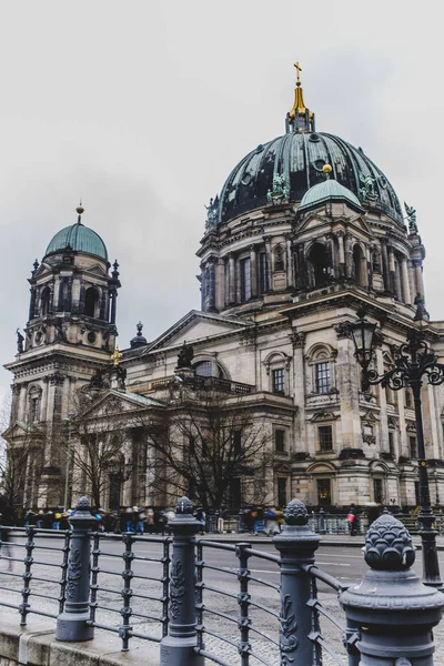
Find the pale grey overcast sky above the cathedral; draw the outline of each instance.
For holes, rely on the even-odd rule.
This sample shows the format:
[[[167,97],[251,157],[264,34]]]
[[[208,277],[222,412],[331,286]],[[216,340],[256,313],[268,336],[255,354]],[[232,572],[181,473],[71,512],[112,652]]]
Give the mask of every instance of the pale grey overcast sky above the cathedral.
[[[316,129],[417,210],[432,319],[444,319],[441,3],[0,1],[1,356],[53,234],[83,222],[121,265],[120,346],[200,306],[206,204],[284,132],[302,65]],[[0,395],[11,375],[0,372]]]

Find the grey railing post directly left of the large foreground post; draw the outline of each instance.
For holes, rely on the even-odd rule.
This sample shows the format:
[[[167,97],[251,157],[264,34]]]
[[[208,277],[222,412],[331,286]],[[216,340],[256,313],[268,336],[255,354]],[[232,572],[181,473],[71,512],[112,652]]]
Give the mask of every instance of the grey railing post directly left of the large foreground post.
[[[281,664],[320,664],[317,646],[311,640],[317,630],[316,610],[311,607],[313,583],[305,566],[314,563],[320,538],[309,527],[305,504],[292,500],[284,511],[285,525],[273,537],[281,553]]]

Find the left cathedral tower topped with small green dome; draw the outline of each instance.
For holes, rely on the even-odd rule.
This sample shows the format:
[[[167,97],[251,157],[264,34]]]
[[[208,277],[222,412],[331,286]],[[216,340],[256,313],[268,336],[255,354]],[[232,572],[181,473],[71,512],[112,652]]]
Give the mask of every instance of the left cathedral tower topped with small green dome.
[[[30,476],[40,481],[23,497],[39,506],[61,504],[60,444],[75,411],[73,396],[110,365],[118,335],[119,264],[111,270],[102,239],[82,223],[83,206],[75,210],[77,222],[59,231],[33,264],[24,337],[18,331],[16,360],[6,365],[14,375],[7,440],[39,442],[39,468]]]

